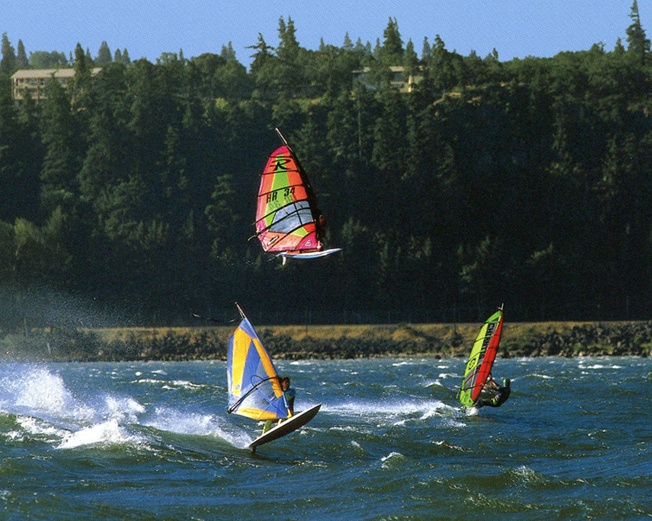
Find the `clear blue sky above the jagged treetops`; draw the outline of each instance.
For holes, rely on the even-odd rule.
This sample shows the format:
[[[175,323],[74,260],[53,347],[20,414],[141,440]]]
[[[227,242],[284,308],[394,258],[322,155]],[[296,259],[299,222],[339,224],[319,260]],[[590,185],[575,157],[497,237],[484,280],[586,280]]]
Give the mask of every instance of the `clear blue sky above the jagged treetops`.
[[[57,51],[69,56],[77,43],[93,57],[106,41],[112,53],[127,49],[133,60],[156,62],[163,53],[186,58],[219,54],[232,44],[247,67],[262,34],[278,43],[279,19],[292,19],[299,45],[316,50],[320,40],[341,47],[348,34],[372,47],[396,19],[406,44],[421,55],[424,38],[437,35],[446,48],[500,61],[545,58],[584,51],[602,43],[607,51],[626,41],[633,0],[2,0],[0,32],[27,55]],[[652,0],[638,0],[641,23],[652,37]]]

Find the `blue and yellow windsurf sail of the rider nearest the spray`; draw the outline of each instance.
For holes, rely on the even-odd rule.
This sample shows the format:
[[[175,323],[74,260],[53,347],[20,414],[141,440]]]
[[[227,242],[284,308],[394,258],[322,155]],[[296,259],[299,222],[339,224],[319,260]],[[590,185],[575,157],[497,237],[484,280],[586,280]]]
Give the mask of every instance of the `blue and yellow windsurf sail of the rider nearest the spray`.
[[[276,368],[244,315],[229,338],[227,379],[230,413],[255,420],[287,418]]]

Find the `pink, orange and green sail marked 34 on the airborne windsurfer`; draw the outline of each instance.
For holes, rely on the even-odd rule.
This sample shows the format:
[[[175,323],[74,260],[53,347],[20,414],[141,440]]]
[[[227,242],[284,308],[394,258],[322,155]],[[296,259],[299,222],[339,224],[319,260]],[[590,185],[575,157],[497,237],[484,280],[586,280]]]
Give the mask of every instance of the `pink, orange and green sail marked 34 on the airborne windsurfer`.
[[[319,252],[319,217],[308,177],[285,142],[269,156],[260,179],[256,235],[266,252]]]

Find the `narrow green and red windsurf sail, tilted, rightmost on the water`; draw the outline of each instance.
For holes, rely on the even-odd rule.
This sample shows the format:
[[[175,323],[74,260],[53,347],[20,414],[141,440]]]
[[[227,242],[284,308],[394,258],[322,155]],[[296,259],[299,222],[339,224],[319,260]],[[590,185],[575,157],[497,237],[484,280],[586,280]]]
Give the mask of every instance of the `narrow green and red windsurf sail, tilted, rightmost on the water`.
[[[464,379],[459,395],[462,405],[471,407],[480,397],[496,359],[502,330],[503,310],[501,308],[487,319],[473,343],[464,369]]]

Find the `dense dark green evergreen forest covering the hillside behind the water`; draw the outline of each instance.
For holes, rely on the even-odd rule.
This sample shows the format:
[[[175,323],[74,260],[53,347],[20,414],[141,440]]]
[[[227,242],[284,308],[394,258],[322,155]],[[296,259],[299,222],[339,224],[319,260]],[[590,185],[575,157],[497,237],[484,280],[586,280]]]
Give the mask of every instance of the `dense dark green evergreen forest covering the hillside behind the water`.
[[[247,70],[228,47],[108,60],[15,103],[0,63],[0,327],[647,319],[652,60],[625,42],[554,58],[312,51],[279,21]],[[14,59],[12,59],[12,57]],[[395,88],[390,67],[416,78]],[[353,71],[364,71],[354,74]],[[280,127],[341,254],[263,256],[255,195]]]

